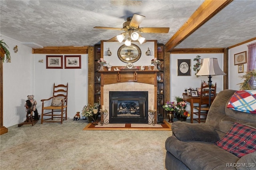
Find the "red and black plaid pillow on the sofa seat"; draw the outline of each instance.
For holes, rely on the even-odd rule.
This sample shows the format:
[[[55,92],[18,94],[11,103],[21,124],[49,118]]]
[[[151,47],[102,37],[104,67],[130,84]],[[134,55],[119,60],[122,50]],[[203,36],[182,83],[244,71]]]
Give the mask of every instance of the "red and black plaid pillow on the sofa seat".
[[[256,152],[256,129],[234,123],[228,133],[215,144],[241,158]]]

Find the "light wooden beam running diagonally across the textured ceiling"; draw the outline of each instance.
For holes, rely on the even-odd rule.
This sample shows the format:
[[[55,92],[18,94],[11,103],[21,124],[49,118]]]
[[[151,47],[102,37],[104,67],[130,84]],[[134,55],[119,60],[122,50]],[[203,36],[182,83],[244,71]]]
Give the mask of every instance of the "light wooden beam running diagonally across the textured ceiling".
[[[165,44],[166,51],[172,52],[172,49],[190,36],[200,26],[206,23],[210,18],[216,15],[220,10],[227,6],[233,0],[205,0],[201,6],[190,16],[190,18],[180,27],[180,29]]]

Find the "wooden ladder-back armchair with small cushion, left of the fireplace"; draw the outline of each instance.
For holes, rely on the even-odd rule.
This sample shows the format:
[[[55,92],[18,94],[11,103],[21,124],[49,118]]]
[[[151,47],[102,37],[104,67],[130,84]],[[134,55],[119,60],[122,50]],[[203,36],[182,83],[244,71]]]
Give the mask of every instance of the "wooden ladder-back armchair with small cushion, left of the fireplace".
[[[44,106],[45,101],[50,101],[52,103],[50,106]],[[52,97],[49,99],[42,99],[42,115],[41,124],[43,122],[55,123],[60,122],[62,124],[63,120],[67,120],[67,109],[68,109],[68,83],[67,85],[53,85]],[[49,112],[45,110],[50,110]],[[50,118],[49,118],[50,117]]]

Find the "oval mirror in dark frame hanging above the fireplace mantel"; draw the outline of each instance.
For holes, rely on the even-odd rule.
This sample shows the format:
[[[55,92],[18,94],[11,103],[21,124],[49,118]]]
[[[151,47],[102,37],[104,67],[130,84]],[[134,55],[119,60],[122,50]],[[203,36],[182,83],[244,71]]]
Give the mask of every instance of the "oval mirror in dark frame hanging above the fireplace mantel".
[[[119,47],[117,51],[118,58],[125,63],[134,63],[138,61],[141,56],[141,50],[138,45],[131,44],[130,46],[126,46],[125,44]]]

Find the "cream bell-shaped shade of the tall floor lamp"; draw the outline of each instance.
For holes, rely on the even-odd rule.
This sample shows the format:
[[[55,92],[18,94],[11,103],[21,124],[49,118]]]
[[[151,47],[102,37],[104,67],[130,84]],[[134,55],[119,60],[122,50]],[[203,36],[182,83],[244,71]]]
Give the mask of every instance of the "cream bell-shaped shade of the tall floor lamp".
[[[202,67],[196,75],[226,75],[219,66],[217,58],[202,59]]]

